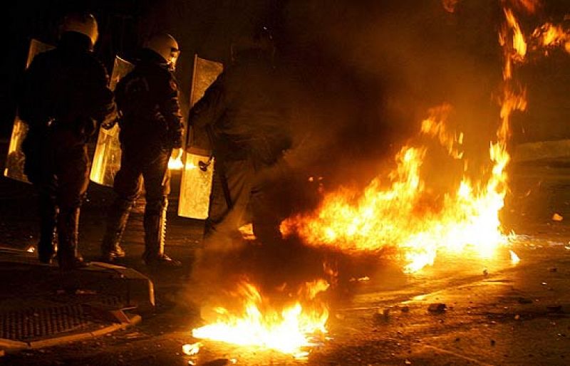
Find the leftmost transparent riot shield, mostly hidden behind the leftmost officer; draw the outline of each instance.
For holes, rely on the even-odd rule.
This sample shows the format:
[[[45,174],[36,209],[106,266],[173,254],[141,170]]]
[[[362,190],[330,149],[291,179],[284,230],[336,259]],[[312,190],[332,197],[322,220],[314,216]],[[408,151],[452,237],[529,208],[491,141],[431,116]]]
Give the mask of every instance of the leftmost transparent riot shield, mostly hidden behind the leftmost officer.
[[[32,39],[30,42],[30,49],[28,51],[26,68],[30,66],[31,61],[38,53],[51,50],[51,48],[53,48],[53,46],[36,39]],[[18,114],[16,113],[16,118],[14,119],[14,128],[12,128],[10,145],[8,147],[8,155],[6,155],[4,177],[9,177],[21,182],[29,183],[26,174],[24,174],[24,160],[26,158],[24,157],[24,152],[21,150],[22,141],[24,141],[24,137],[26,137],[27,133],[28,125],[20,120]]]

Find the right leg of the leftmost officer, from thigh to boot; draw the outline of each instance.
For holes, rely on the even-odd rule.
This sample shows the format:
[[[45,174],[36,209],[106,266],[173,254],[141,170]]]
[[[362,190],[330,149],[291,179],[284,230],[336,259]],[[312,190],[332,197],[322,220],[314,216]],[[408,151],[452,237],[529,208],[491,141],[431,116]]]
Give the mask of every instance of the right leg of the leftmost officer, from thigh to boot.
[[[78,251],[78,236],[80,207],[89,183],[89,165],[86,145],[56,147],[58,262],[66,270],[85,265]]]

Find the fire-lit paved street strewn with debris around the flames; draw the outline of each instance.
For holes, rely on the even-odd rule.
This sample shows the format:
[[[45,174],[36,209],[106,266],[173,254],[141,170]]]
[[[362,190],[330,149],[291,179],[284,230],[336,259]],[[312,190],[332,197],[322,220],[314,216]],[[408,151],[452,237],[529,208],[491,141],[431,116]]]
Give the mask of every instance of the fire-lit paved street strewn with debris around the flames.
[[[33,189],[5,178],[0,178],[0,187],[2,246],[25,249],[35,244]],[[180,258],[184,269],[152,273],[139,259],[143,246],[139,205],[125,237],[125,264],[155,283],[156,313],[143,316],[139,325],[100,338],[8,352],[0,362],[188,365],[192,361],[224,365],[234,359],[238,365],[567,365],[569,188],[570,164],[566,162],[514,167],[503,221],[519,235],[512,247],[521,258],[517,264],[511,262],[509,250],[502,249],[487,261],[437,258],[435,266],[406,275],[384,258],[349,258],[296,246],[290,256],[266,256],[264,249],[248,248],[239,254],[235,266],[224,262],[228,277],[240,268],[255,268],[252,276],[263,278],[264,271],[271,268],[276,276],[287,278],[296,273],[295,278],[320,271],[322,258],[336,256],[339,282],[328,294],[330,339],[302,360],[213,342],[205,342],[195,357],[184,355],[182,345],[195,341],[190,330],[201,325],[195,302],[200,286],[189,273],[202,222],[177,217],[173,200],[167,252]],[[86,258],[98,256],[110,197],[110,189],[90,186],[81,216],[81,248]],[[563,219],[553,221],[554,213]],[[370,280],[351,281],[364,276]],[[445,304],[445,310],[429,311],[436,303]]]

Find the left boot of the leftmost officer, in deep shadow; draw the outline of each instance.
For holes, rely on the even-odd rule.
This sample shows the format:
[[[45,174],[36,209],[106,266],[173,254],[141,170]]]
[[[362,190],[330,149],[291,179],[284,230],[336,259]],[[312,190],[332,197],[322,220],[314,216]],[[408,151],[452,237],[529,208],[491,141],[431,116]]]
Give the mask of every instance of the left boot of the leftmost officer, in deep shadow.
[[[51,197],[41,195],[40,209],[40,241],[38,242],[38,259],[41,263],[50,264],[56,253],[56,217],[57,208]]]

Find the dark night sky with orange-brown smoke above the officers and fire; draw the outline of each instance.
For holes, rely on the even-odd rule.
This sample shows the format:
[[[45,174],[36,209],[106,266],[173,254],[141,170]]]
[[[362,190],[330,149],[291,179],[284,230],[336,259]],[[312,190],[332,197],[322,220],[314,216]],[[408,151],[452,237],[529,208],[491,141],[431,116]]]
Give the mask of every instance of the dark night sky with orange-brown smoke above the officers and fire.
[[[107,66],[115,54],[130,58],[149,33],[172,33],[182,48],[177,77],[183,101],[190,91],[194,53],[226,62],[232,39],[261,23],[269,25],[279,64],[290,79],[293,122],[312,142],[314,160],[347,160],[350,165],[355,157],[391,156],[401,141],[415,135],[427,108],[442,102],[457,107],[467,132],[492,132],[496,122],[489,115],[495,116],[490,95],[501,72],[499,0],[460,0],[454,14],[440,0],[11,1],[7,9],[3,5],[5,51],[0,56],[4,138],[11,130],[13,85],[24,68],[29,39],[56,43],[56,24],[66,9],[90,10],[98,18],[95,51]],[[570,14],[570,1],[544,3],[529,24],[560,22]],[[570,71],[561,71],[570,56],[564,57],[548,79],[559,85],[548,90],[558,99],[570,91]],[[533,67],[540,75],[552,65]],[[525,138],[570,137],[567,122],[561,122],[564,108],[556,108],[557,114],[547,105],[535,108],[534,117],[549,110],[553,125]]]

